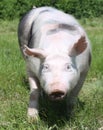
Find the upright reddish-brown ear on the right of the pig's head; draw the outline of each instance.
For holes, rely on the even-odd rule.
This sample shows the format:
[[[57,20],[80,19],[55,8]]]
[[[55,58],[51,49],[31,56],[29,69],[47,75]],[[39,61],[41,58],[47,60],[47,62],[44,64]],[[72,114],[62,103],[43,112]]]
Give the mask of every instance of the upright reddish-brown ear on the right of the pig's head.
[[[77,41],[77,43],[74,44],[69,55],[70,56],[77,56],[77,55],[81,54],[86,48],[87,48],[87,42],[86,42],[85,36],[82,36]]]

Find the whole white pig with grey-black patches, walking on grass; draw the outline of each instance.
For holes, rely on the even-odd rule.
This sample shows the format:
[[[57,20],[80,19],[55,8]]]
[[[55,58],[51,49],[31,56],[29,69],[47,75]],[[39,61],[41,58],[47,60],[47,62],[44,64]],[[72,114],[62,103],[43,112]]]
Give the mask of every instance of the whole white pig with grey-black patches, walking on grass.
[[[38,98],[73,104],[91,63],[91,45],[78,21],[52,7],[33,8],[20,20],[18,41],[30,84],[28,117],[38,119]]]

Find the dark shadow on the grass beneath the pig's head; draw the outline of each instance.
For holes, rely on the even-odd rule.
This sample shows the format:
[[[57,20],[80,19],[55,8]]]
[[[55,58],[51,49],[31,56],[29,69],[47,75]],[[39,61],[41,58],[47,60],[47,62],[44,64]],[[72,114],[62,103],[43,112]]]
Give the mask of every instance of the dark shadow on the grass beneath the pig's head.
[[[69,121],[75,117],[75,109],[78,111],[84,108],[84,103],[77,101],[76,106],[70,106],[69,111],[67,111],[67,101],[50,101],[47,95],[43,95],[39,99],[39,115],[41,120],[46,122],[49,127],[54,126],[53,130],[56,127],[63,127]]]

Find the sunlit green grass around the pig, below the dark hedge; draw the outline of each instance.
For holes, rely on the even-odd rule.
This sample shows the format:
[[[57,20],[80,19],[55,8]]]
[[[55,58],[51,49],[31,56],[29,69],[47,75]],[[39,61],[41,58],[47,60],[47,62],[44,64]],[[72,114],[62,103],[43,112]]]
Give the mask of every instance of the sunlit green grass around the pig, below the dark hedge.
[[[92,65],[69,120],[44,102],[41,119],[28,122],[28,83],[17,40],[18,20],[0,21],[0,130],[99,130],[103,127],[103,17],[83,19],[92,44]],[[46,104],[46,105],[45,105]],[[53,110],[52,110],[53,109]]]

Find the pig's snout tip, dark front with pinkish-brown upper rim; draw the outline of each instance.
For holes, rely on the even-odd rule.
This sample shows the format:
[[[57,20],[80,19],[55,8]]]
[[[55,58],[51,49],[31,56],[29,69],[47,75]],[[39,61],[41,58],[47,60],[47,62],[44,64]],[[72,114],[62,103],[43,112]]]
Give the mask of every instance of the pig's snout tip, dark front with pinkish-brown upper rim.
[[[49,94],[49,97],[51,100],[62,100],[65,97],[66,93],[64,91],[61,90],[54,90],[53,92],[51,92],[51,94]]]

